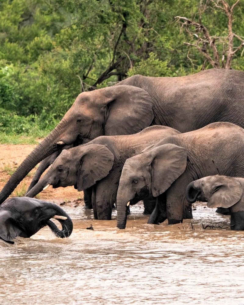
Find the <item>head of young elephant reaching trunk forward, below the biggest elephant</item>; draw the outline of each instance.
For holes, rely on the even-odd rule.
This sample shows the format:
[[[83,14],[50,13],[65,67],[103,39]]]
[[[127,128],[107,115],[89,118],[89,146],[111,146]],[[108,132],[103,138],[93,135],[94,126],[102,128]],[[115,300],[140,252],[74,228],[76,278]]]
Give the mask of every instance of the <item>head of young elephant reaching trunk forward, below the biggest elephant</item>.
[[[34,197],[49,185],[53,188],[74,185],[79,192],[83,191],[108,175],[113,160],[113,153],[105,145],[80,145],[63,150],[26,196]]]

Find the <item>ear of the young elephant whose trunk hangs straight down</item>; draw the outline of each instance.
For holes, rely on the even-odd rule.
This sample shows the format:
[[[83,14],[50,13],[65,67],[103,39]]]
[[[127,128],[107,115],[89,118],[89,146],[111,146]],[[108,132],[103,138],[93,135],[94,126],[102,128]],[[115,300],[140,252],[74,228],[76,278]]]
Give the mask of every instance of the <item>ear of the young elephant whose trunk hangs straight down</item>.
[[[159,196],[185,171],[185,148],[164,144],[150,150],[152,160],[152,195]]]

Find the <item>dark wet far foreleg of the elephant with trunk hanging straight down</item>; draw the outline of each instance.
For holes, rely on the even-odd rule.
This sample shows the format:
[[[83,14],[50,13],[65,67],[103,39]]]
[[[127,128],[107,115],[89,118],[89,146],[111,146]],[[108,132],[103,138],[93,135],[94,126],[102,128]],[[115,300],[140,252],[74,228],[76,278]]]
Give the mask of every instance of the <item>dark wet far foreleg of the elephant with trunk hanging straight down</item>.
[[[159,195],[156,199],[156,205],[148,220],[148,224],[160,224],[167,219],[166,192]]]

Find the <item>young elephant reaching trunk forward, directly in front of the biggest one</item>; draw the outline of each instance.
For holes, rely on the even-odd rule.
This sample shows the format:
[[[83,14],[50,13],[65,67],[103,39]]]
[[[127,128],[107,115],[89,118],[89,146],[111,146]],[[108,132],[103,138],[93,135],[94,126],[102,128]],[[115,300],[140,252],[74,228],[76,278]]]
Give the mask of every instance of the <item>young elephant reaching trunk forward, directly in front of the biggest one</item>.
[[[74,185],[78,191],[93,186],[94,217],[110,220],[125,160],[148,145],[177,134],[180,132],[173,128],[154,125],[134,135],[101,136],[88,144],[63,150],[26,196],[36,196],[48,184],[54,188]]]

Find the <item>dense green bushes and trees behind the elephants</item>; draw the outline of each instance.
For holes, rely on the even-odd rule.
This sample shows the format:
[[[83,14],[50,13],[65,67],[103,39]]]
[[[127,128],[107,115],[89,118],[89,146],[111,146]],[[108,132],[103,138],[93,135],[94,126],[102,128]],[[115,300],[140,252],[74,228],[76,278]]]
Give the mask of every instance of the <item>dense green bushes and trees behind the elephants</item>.
[[[242,6],[235,7],[238,35]],[[6,134],[51,130],[80,92],[127,76],[183,76],[203,63],[212,68],[198,48],[184,43],[193,44],[197,34],[176,16],[201,20],[216,39],[228,36],[228,17],[212,0],[0,0],[0,11],[0,126]],[[223,44],[217,48],[221,54]],[[243,67],[240,48],[232,68]]]

